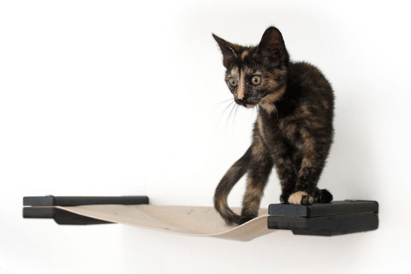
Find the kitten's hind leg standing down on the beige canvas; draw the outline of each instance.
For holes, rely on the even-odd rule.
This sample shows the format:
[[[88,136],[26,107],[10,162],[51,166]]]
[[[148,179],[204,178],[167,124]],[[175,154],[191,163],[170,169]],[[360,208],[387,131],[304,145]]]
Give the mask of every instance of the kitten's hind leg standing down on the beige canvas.
[[[247,171],[247,189],[242,199],[241,223],[258,216],[258,208],[264,194],[264,188],[273,169],[273,160],[269,150],[257,134],[251,145],[251,160]]]

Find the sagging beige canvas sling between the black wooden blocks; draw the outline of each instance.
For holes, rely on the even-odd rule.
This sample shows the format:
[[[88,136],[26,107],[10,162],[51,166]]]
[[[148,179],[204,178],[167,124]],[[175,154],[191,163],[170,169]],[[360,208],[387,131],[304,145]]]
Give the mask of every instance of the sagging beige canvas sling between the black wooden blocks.
[[[122,223],[147,229],[187,236],[211,236],[247,241],[269,234],[267,210],[260,210],[256,219],[239,226],[228,226],[212,207],[153,205],[55,206],[94,219]],[[238,212],[238,209],[235,211]]]

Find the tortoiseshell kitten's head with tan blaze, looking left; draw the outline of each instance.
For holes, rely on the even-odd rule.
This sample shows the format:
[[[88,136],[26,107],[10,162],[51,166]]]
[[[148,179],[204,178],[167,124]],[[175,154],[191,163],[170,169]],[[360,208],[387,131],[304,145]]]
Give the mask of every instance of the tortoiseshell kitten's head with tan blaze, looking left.
[[[212,35],[223,53],[225,82],[239,105],[267,110],[286,88],[288,52],[281,32],[269,27],[256,47],[242,47]]]

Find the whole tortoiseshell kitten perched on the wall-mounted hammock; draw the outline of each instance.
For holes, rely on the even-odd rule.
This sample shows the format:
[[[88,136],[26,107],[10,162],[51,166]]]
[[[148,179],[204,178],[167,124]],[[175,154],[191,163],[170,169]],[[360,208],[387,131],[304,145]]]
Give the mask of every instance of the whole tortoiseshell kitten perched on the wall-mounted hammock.
[[[242,224],[257,216],[264,187],[275,166],[282,203],[327,203],[332,195],[317,188],[333,137],[334,95],[315,66],[290,62],[282,34],[264,32],[256,47],[242,47],[213,34],[227,69],[225,82],[234,100],[258,106],[251,146],[225,173],[214,207],[226,223]],[[241,216],[227,205],[234,184],[247,173]]]

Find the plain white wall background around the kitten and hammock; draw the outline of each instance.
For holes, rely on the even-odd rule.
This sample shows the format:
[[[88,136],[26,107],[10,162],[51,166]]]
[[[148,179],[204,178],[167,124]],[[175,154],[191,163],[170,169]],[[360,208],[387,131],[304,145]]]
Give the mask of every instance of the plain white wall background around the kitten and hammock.
[[[1,1],[0,273],[408,272],[409,11],[406,1]],[[23,196],[49,194],[212,206],[256,112],[224,112],[211,33],[255,45],[269,25],[335,90],[319,186],[379,201],[377,231],[233,242],[22,218]],[[273,173],[262,206],[279,194]]]

